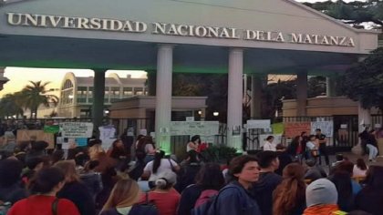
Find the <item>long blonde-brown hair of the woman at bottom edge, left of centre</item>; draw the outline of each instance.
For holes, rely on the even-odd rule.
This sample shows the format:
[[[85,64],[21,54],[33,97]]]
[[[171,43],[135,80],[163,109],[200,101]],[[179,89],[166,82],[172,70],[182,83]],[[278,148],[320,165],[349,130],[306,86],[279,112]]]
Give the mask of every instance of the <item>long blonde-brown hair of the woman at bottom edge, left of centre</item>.
[[[140,193],[139,184],[135,180],[119,179],[101,211],[132,206],[140,200]]]

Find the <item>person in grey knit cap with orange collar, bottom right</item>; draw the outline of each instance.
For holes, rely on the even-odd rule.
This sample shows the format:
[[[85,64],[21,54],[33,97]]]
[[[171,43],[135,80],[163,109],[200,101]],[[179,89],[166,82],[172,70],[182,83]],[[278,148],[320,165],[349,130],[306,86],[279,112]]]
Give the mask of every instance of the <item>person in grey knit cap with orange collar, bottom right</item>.
[[[342,213],[337,206],[337,191],[328,179],[316,179],[305,189],[307,208],[303,215],[336,215]]]

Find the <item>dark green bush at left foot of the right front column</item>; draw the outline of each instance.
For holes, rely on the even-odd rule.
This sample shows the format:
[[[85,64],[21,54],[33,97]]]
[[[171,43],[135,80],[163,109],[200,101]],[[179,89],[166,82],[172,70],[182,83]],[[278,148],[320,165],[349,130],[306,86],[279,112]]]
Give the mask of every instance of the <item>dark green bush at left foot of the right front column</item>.
[[[237,156],[236,151],[235,148],[211,145],[202,151],[202,156],[210,162],[226,163]]]

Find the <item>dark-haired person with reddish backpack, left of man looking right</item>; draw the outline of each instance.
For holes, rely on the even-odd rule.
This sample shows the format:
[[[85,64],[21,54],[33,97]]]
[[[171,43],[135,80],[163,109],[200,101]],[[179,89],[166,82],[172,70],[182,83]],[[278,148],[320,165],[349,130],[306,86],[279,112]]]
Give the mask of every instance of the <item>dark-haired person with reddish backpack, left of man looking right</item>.
[[[202,166],[191,184],[181,193],[178,215],[191,215],[191,210],[198,208],[224,186],[221,167],[217,163],[207,163]]]

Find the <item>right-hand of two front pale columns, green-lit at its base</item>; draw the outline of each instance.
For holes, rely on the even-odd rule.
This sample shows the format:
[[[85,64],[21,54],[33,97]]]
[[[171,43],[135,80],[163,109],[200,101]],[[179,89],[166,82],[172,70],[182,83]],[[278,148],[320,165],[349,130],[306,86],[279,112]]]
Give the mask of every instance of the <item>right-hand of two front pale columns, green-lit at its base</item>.
[[[231,48],[229,51],[229,87],[227,102],[227,145],[242,148],[242,98],[243,98],[243,49]]]

